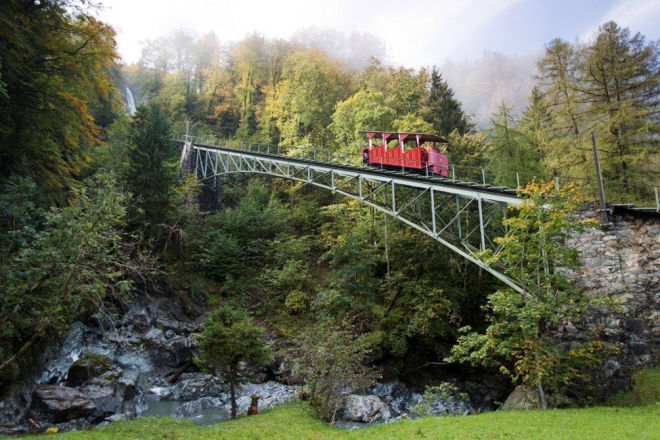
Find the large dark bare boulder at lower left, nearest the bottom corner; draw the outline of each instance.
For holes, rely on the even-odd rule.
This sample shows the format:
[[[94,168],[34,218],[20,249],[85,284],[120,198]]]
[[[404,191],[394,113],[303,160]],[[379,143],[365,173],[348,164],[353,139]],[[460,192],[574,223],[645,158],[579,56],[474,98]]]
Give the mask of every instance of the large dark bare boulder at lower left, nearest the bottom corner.
[[[31,408],[39,419],[54,423],[87,417],[96,406],[91,399],[75,388],[58,385],[39,385],[32,394]]]

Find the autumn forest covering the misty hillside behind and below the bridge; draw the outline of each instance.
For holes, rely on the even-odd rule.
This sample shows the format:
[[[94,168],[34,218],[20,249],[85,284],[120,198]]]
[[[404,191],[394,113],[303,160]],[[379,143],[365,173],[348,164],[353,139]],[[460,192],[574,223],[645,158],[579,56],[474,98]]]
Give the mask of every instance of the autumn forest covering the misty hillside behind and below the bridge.
[[[359,158],[360,130],[428,132],[448,138],[453,163],[591,177],[594,132],[604,177],[658,186],[658,43],[614,22],[584,46],[548,42],[524,110],[512,110],[506,100],[514,95],[503,93],[478,130],[445,79],[460,69],[388,65],[368,36],[351,37],[341,51],[332,49],[336,35],[311,34],[225,42],[177,32],[146,42],[140,61],[125,65],[114,30],[87,2],[5,2],[1,392],[74,321],[102,321],[135,298],[169,295],[193,317],[224,310],[204,321],[200,351],[175,380],[184,370],[225,369],[232,401],[243,361],[274,362],[262,352],[265,337],[279,362],[295,364],[326,420],[343,404],[346,383],[364,388],[378,377],[420,387],[469,374],[507,377],[538,388],[543,407],[602,397],[600,376],[584,371],[616,347],[590,330],[570,347],[555,336],[562,319],[579,327],[580,310],[612,306],[584,298],[558,269],[576,263],[569,232],[592,225],[566,215],[585,197],[578,189],[528,186],[529,205],[511,212],[501,238],[513,243],[510,252],[479,256],[498,258],[524,281],[519,294],[404,224],[299,183],[221,178],[217,209],[206,211],[203,184],[179,172],[171,139],[188,124],[191,135],[267,142],[283,154],[313,147]],[[461,87],[471,93],[493,87],[488,75],[467,73]],[[133,116],[125,87],[140,104]],[[218,347],[237,353],[226,359],[229,348]],[[305,354],[317,347],[317,357]]]

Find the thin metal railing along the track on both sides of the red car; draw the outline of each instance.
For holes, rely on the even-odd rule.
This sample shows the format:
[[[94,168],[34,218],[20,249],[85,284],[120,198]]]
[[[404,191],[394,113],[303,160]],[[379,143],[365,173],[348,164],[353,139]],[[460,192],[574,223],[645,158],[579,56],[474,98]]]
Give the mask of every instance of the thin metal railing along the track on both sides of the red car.
[[[181,142],[192,141],[198,145],[230,148],[238,151],[366,167],[362,162],[361,155],[357,152],[356,154],[345,154],[336,151],[318,150],[306,145],[284,148],[279,145],[245,142],[236,139],[221,140],[210,136],[177,135],[174,136],[174,140]],[[383,165],[383,167],[385,168],[387,166]],[[427,176],[432,175],[428,169],[422,170],[422,174],[426,174]],[[544,175],[450,163],[447,179],[455,182],[471,182],[484,187],[507,187],[512,189],[525,186],[533,180],[554,181],[558,188],[572,183],[583,188],[587,197],[591,195],[594,200],[598,200],[598,184],[594,178]],[[657,186],[623,183],[612,180],[603,180],[603,186],[607,203],[654,207],[660,212],[660,188]]]

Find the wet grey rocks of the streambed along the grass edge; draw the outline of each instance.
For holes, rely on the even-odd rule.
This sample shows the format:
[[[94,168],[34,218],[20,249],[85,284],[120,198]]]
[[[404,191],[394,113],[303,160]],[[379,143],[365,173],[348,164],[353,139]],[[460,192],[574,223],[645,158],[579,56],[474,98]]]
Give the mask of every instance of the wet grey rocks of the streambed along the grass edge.
[[[67,431],[151,415],[197,423],[229,418],[228,384],[198,371],[192,362],[201,317],[188,319],[162,304],[136,300],[117,316],[97,318],[93,325],[74,323],[61,344],[46,350],[40,371],[5,393],[0,400],[0,433],[53,426]],[[291,361],[276,359],[254,371],[254,382],[239,388],[239,414],[247,410],[253,394],[259,396],[260,409],[298,397],[300,384],[292,377]],[[430,412],[472,414],[501,397],[482,391],[473,399],[438,401]],[[369,394],[348,396],[340,425],[395,420],[410,414],[420,399],[420,392],[399,381],[377,384]]]

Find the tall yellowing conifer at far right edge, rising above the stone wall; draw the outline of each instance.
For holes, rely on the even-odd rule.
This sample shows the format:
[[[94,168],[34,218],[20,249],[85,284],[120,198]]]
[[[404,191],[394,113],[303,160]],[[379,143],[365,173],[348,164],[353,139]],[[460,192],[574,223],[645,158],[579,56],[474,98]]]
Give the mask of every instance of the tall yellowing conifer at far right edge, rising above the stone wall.
[[[660,64],[646,44],[614,22],[599,28],[584,54],[580,92],[599,133],[606,176],[628,182],[660,176]]]

